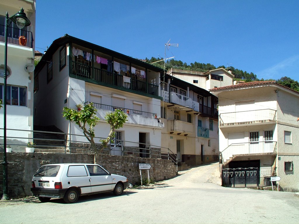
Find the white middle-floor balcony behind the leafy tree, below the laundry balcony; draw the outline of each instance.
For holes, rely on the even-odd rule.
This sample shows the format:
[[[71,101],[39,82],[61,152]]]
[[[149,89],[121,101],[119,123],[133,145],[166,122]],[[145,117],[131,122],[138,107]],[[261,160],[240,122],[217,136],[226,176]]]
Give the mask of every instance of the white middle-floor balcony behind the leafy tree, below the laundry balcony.
[[[90,102],[85,102],[85,104],[89,104]],[[160,120],[155,118],[155,113],[149,113],[145,111],[137,111],[130,108],[120,108],[111,105],[93,103],[94,107],[97,108],[97,116],[100,118],[100,121],[105,121],[106,113],[111,111],[115,111],[115,109],[119,109],[124,113],[127,113],[128,121],[126,124],[128,125],[140,125],[140,126],[152,126],[154,128],[164,128],[164,124],[160,122]],[[127,112],[129,111],[129,112]]]

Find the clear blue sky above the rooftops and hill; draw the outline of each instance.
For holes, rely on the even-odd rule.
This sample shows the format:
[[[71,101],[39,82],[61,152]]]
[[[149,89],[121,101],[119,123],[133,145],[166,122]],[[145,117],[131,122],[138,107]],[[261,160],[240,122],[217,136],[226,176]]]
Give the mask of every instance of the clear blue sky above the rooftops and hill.
[[[298,80],[299,1],[37,0],[36,50],[68,33],[125,55],[233,66]]]

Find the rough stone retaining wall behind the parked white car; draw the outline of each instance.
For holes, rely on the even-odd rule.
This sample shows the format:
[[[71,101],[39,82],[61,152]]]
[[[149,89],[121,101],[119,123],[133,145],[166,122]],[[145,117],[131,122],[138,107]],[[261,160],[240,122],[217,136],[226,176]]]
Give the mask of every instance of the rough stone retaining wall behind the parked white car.
[[[3,153],[0,153],[3,162]],[[94,163],[94,154],[79,153],[7,153],[8,196],[18,198],[32,195],[30,191],[33,174],[41,165],[52,163]],[[150,178],[155,181],[176,176],[176,166],[170,160],[100,154],[97,163],[109,172],[126,176],[133,185],[140,182],[139,163],[149,163]],[[3,165],[0,166],[0,194],[3,194]],[[142,171],[147,177],[147,171]]]

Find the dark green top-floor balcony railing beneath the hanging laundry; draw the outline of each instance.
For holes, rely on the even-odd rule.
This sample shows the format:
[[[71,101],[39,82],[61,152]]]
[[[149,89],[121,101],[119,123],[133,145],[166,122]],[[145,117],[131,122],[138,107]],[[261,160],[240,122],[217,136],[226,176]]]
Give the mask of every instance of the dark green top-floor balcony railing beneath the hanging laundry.
[[[158,86],[147,82],[142,82],[137,79],[132,79],[124,76],[108,72],[99,68],[92,68],[89,65],[84,65],[73,61],[73,73],[77,76],[92,79],[97,82],[123,87],[130,90],[135,90],[140,93],[146,93],[153,96],[158,96]]]

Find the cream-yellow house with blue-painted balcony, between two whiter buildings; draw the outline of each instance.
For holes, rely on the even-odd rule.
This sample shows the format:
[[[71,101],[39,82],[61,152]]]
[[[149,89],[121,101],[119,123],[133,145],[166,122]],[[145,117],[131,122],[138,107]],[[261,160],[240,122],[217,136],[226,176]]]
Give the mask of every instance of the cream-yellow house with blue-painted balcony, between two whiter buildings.
[[[217,97],[175,76],[161,77],[161,145],[187,165],[218,160]]]

